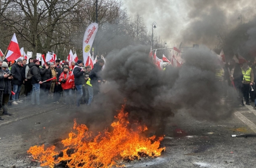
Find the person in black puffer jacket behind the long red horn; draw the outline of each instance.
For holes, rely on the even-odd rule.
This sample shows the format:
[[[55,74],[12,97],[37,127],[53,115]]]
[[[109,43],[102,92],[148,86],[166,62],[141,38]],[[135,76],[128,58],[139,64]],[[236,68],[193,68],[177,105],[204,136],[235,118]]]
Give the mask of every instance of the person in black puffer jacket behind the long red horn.
[[[50,64],[51,62],[46,62],[46,66],[43,65],[43,67],[39,69],[42,81],[46,81],[52,78],[52,70],[50,70],[49,68]],[[47,95],[49,94],[51,84],[52,82],[48,81],[48,82],[42,83],[42,85],[40,86],[41,100],[47,100]]]

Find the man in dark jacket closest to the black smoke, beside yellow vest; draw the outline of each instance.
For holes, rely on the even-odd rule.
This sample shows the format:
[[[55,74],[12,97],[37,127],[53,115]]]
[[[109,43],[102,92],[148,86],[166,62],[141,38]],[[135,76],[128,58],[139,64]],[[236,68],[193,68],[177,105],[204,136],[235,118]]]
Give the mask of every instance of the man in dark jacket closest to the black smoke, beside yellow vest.
[[[98,95],[99,94],[99,85],[103,81],[100,77],[100,72],[102,70],[102,67],[104,65],[104,60],[99,59],[94,65],[92,72],[89,74],[89,78],[91,79],[91,84],[93,87],[93,95]],[[103,81],[104,82],[104,81]]]

